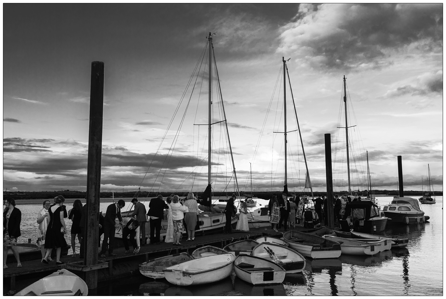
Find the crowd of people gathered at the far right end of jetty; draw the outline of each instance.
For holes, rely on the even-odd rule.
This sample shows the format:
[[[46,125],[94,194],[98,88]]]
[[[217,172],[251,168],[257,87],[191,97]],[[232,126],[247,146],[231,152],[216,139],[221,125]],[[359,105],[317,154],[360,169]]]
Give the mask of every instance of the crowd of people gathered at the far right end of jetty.
[[[296,193],[291,193],[291,197],[287,198],[286,193],[282,193],[281,198],[278,198],[277,194],[273,194],[269,203],[269,222],[271,227],[275,231],[281,229],[282,224],[284,231],[288,227],[293,226],[296,228],[296,224],[304,227],[312,228],[321,225],[322,220],[324,225],[328,225],[328,201],[324,195],[317,195],[318,197],[312,199],[314,202],[314,209],[311,209],[306,201],[306,197],[296,197]],[[353,200],[350,196],[339,196],[336,194],[333,198],[333,211],[334,219],[341,220],[346,214],[347,205],[351,201],[361,201],[361,197],[354,197]]]

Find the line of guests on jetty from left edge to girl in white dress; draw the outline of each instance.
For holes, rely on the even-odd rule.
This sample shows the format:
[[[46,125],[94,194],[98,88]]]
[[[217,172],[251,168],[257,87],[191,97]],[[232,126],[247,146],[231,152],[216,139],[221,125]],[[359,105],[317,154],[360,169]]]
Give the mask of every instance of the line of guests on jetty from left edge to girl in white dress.
[[[225,233],[232,233],[231,218],[235,215],[238,209],[234,205],[235,194],[227,202],[224,211],[226,215]],[[199,201],[199,200],[198,200]],[[51,253],[56,250],[56,264],[63,264],[60,260],[62,248],[67,246],[66,234],[68,229],[66,227],[65,219],[72,221],[71,234],[71,248],[73,250],[73,257],[76,257],[76,237],[79,246],[79,258],[84,257],[84,238],[85,233],[85,217],[87,213],[87,204],[83,205],[81,200],[75,200],[73,207],[67,211],[64,205],[65,198],[62,195],[54,197],[53,203],[49,200],[44,200],[42,208],[37,213],[37,232],[36,243],[41,250],[41,262],[48,264],[54,262],[51,258]],[[133,252],[138,253],[140,246],[145,246],[147,240],[145,238],[146,221],[150,223],[150,238],[149,244],[160,244],[160,242],[173,243],[175,246],[182,245],[183,229],[187,232],[188,241],[195,240],[195,230],[199,229],[198,215],[200,207],[205,210],[206,207],[198,205],[197,197],[194,193],[188,193],[187,197],[180,199],[178,195],[172,194],[163,200],[162,195],[152,198],[149,202],[149,211],[146,211],[145,205],[138,201],[137,198],[132,199],[134,209],[128,214],[128,217],[121,216],[121,209],[125,206],[124,200],[119,200],[116,203],[108,205],[105,216],[99,213],[99,240],[98,246],[101,247],[99,256],[105,258],[108,250],[108,256],[116,256],[113,253],[115,244],[115,232],[122,229],[123,243],[125,253],[130,252],[128,241],[133,246]],[[240,219],[237,223],[236,229],[248,231],[248,209],[246,202],[241,203]],[[119,219],[119,224],[115,219]],[[161,240],[161,221],[167,220],[167,232],[164,240]],[[8,250],[11,249],[14,257],[17,260],[17,267],[21,267],[20,256],[16,248],[17,238],[21,236],[21,211],[16,207],[16,202],[12,198],[4,200],[3,211],[3,268],[6,269],[6,260]],[[101,246],[101,236],[103,241]],[[127,237],[130,237],[129,239]]]

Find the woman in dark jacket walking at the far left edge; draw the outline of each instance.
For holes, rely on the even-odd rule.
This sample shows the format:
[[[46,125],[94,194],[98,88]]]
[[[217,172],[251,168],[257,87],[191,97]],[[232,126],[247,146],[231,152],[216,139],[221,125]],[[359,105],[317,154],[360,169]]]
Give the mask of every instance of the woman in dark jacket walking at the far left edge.
[[[22,213],[16,208],[16,201],[12,198],[5,199],[3,205],[3,269],[8,268],[6,266],[6,259],[8,258],[9,248],[11,248],[17,260],[17,267],[20,268],[22,264],[16,244],[17,238],[21,236],[20,222],[22,220]]]

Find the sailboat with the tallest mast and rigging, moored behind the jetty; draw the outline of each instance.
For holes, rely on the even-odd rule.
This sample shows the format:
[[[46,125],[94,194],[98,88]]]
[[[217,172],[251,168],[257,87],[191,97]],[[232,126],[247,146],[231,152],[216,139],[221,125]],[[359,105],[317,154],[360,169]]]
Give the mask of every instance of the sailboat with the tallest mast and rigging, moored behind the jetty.
[[[180,102],[178,103],[177,109],[175,110],[173,117],[169,123],[169,127],[166,129],[165,135],[163,136],[161,143],[158,147],[158,150],[157,150],[156,154],[153,156],[153,160],[149,164],[150,165],[149,169],[146,172],[146,175],[148,173],[151,173],[149,171],[151,170],[150,167],[153,164],[155,157],[159,154],[160,155],[162,154],[162,152],[161,152],[161,149],[163,148],[162,145],[165,145],[165,144],[163,144],[163,141],[167,141],[165,139],[170,131],[170,128],[171,128],[174,120],[181,119],[181,121],[179,121],[178,129],[177,129],[175,137],[173,138],[172,144],[170,145],[170,148],[169,148],[169,145],[166,146],[166,148],[169,148],[169,151],[168,151],[167,155],[165,155],[166,156],[165,160],[164,160],[162,166],[160,167],[159,171],[157,169],[158,175],[153,180],[153,186],[155,185],[155,183],[157,183],[159,185],[159,188],[161,188],[162,182],[164,179],[164,174],[167,171],[167,169],[169,168],[169,161],[172,158],[173,150],[175,149],[175,144],[178,141],[179,135],[181,135],[180,130],[182,129],[183,123],[185,123],[187,109],[190,106],[192,106],[192,105],[190,105],[191,98],[193,98],[192,93],[194,93],[195,88],[199,88],[196,86],[201,86],[200,84],[196,84],[196,82],[199,81],[199,79],[201,79],[202,85],[204,85],[204,82],[206,81],[205,74],[208,74],[207,79],[209,81],[208,82],[209,85],[208,85],[208,92],[207,92],[208,93],[208,97],[207,97],[208,101],[207,101],[207,109],[206,109],[207,110],[206,111],[207,123],[206,124],[195,124],[194,123],[194,126],[206,126],[207,156],[203,158],[203,157],[198,157],[198,154],[197,154],[197,157],[194,157],[194,162],[196,162],[196,165],[193,166],[192,173],[189,176],[187,176],[185,179],[185,181],[187,179],[189,179],[189,181],[190,181],[191,180],[190,176],[195,176],[193,182],[190,184],[189,187],[187,187],[187,189],[194,192],[195,195],[198,195],[198,198],[199,198],[198,203],[199,203],[200,213],[198,215],[198,221],[197,221],[198,222],[197,225],[199,226],[199,228],[197,227],[195,229],[196,235],[197,234],[198,235],[205,234],[205,233],[221,232],[221,231],[223,231],[223,229],[226,225],[225,214],[215,212],[215,210],[212,209],[212,202],[211,202],[215,198],[212,196],[212,189],[213,189],[212,183],[216,184],[216,181],[219,179],[219,178],[214,178],[214,181],[212,181],[212,179],[213,179],[212,175],[214,174],[213,169],[212,169],[212,166],[213,166],[212,159],[213,159],[213,155],[215,155],[215,153],[213,152],[213,148],[212,148],[212,142],[214,141],[214,143],[215,143],[215,140],[213,140],[212,138],[213,138],[214,131],[218,132],[213,129],[213,125],[220,125],[220,130],[221,130],[220,134],[226,135],[225,136],[226,138],[224,140],[227,141],[229,149],[228,150],[225,149],[222,152],[224,152],[225,154],[230,153],[230,162],[231,162],[231,170],[232,170],[231,180],[232,180],[232,178],[234,179],[235,187],[236,187],[235,193],[239,194],[239,197],[240,197],[238,183],[237,183],[237,176],[236,176],[235,166],[234,166],[234,159],[232,156],[231,141],[229,139],[229,131],[227,128],[227,119],[226,119],[226,114],[225,114],[224,106],[223,106],[221,86],[220,86],[220,82],[219,82],[219,73],[217,70],[217,65],[215,63],[214,45],[212,43],[214,36],[215,36],[215,33],[209,33],[209,36],[206,37],[206,40],[207,40],[206,47],[205,47],[205,49],[203,49],[200,59],[199,59],[197,65],[195,66],[194,74],[191,76],[188,86],[186,86],[186,90],[184,91],[182,98],[181,98]],[[208,61],[207,61],[208,64],[206,63],[206,53],[208,55]],[[202,66],[204,66],[204,65],[207,65],[206,70],[204,70],[204,68],[202,68]],[[200,74],[202,74],[202,76],[203,76],[202,78],[199,78]],[[213,82],[213,81],[215,81],[215,82]],[[187,93],[190,93],[190,95]],[[187,94],[187,97],[186,97],[186,94]],[[215,97],[215,98],[213,98],[213,97]],[[185,111],[182,114],[182,118],[181,118],[181,117],[178,117],[178,111],[180,110],[180,106],[182,105],[183,100],[185,102]],[[198,100],[199,100],[199,98],[198,98]],[[198,104],[197,104],[197,107],[198,107]],[[214,110],[217,110],[217,109],[220,109],[219,115],[218,115],[218,117],[220,117],[220,119],[219,119],[219,121],[214,121],[212,113]],[[196,111],[198,111],[198,108],[196,109]],[[199,112],[200,111],[198,111],[197,114]],[[195,117],[196,116],[197,115],[195,115]],[[194,119],[194,122],[195,122],[195,119]],[[199,129],[197,131],[199,132]],[[196,133],[195,130],[194,130],[194,133]],[[215,133],[215,136],[218,136],[218,133]],[[197,146],[197,144],[198,144],[198,146]],[[191,145],[191,147],[194,147],[195,151],[201,152],[201,150],[206,149],[204,146],[200,147],[201,144],[203,144],[203,142],[201,140],[199,140],[199,141],[194,140],[194,143],[193,143],[193,145]],[[197,150],[197,148],[199,148],[199,150]],[[180,150],[178,150],[178,152],[182,152],[182,151],[184,151],[184,148],[181,148]],[[219,158],[217,158],[217,159],[219,159]],[[195,180],[199,181],[201,173],[199,173],[198,168],[204,165],[205,160],[207,160],[207,186],[206,186],[204,192],[198,193],[197,191],[193,190],[194,182],[195,182]],[[221,161],[217,161],[217,164],[219,165],[219,167],[221,167],[220,166]],[[164,170],[164,173],[161,170]],[[216,172],[215,172],[215,175],[216,175]],[[159,181],[158,181],[158,179],[159,179]],[[143,179],[143,181],[144,181],[144,179]],[[178,184],[181,186],[181,184],[184,183],[184,181],[181,184],[180,183],[181,182],[178,182]],[[141,182],[141,184],[142,184],[142,182]],[[227,185],[229,185],[229,182],[224,181],[222,184],[227,186]],[[153,188],[153,186],[152,186],[152,188]],[[198,187],[199,187],[199,185],[198,185]],[[141,188],[141,185],[138,189],[140,189],[140,188]],[[152,188],[150,189],[150,191],[152,191]],[[150,191],[149,191],[149,193],[150,193]],[[137,193],[135,194],[135,197],[137,197]],[[175,193],[175,191],[173,193]],[[124,217],[124,216],[130,214],[131,212],[132,211],[128,211],[125,214],[121,213],[121,215],[123,215],[123,217]],[[233,217],[231,217],[231,227],[235,228],[236,224],[237,224],[237,215],[233,215]],[[150,231],[150,230],[148,230],[149,225],[150,225],[150,221],[147,221],[146,232]],[[161,232],[160,232],[161,238],[163,238],[163,236],[166,235],[166,231],[167,231],[167,219],[165,219],[164,221],[161,222]],[[183,233],[186,233],[186,230],[183,230]],[[122,238],[122,230],[118,231],[115,234],[115,236],[116,236],[116,238]]]

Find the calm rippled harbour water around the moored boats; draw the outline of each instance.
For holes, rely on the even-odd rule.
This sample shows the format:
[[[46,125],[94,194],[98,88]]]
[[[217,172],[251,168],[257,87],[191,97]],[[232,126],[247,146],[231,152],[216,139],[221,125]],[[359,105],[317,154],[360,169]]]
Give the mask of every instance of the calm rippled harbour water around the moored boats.
[[[379,205],[392,197],[376,197]],[[126,207],[131,206],[125,199]],[[307,260],[298,274],[287,274],[277,286],[254,287],[231,277],[196,287],[176,287],[165,279],[153,281],[144,276],[110,284],[96,290],[97,295],[443,295],[443,198],[434,205],[421,205],[428,223],[389,225],[382,234],[409,238],[405,249],[392,249],[371,257],[341,255],[338,259]],[[109,202],[101,203],[105,211]],[[268,201],[259,200],[257,207]],[[148,202],[145,203],[148,207]],[[19,242],[35,242],[36,217],[41,205],[17,205],[22,212]],[[70,204],[67,204],[70,209]],[[67,220],[68,227],[71,221]],[[70,238],[66,235],[67,243]],[[78,246],[78,244],[77,244]]]

